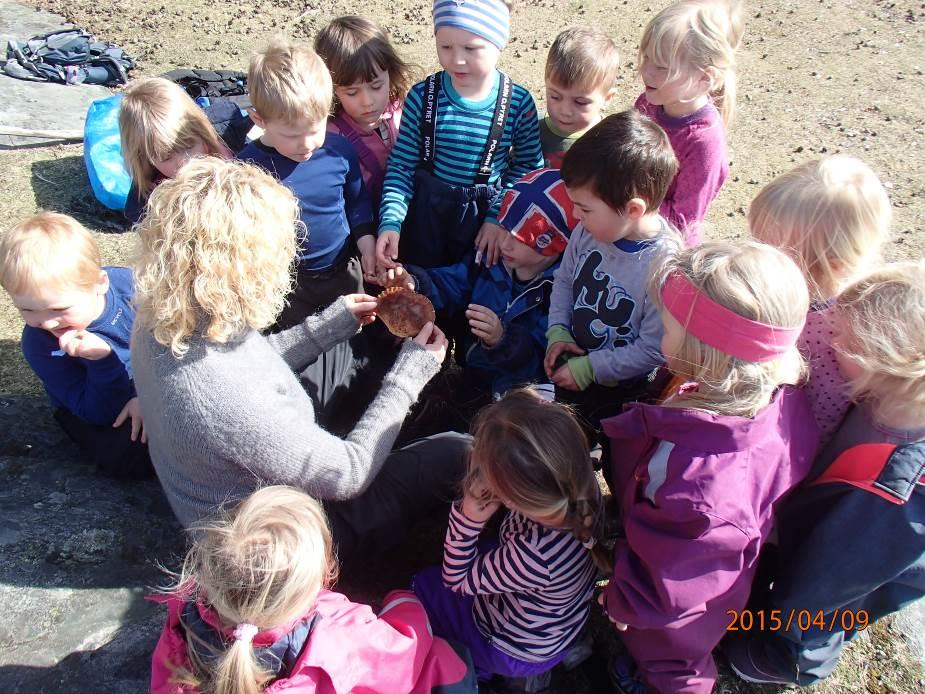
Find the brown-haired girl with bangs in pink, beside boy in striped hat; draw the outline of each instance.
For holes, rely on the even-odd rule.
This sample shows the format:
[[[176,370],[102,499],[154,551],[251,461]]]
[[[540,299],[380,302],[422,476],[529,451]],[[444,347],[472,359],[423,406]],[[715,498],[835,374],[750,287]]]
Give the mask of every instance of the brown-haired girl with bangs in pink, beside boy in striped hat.
[[[376,213],[414,69],[399,57],[388,35],[365,17],[333,20],[315,38],[315,50],[334,82],[328,132],[343,135],[356,150]]]

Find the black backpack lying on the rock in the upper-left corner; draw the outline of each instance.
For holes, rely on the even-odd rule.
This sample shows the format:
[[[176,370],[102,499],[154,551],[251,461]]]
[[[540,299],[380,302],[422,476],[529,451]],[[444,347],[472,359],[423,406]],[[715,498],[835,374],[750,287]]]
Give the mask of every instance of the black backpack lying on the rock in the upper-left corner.
[[[3,72],[10,77],[60,84],[128,82],[135,60],[118,46],[82,29],[60,29],[25,42],[10,40]]]

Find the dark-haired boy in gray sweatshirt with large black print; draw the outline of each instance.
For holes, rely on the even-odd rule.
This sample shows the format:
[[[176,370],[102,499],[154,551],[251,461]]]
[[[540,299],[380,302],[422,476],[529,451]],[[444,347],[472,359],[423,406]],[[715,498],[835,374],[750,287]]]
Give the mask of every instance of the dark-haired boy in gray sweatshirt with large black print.
[[[544,368],[589,429],[638,398],[662,362],[646,282],[675,236],[658,209],[676,170],[665,133],[636,111],[608,116],[565,155],[581,224],[555,273]]]

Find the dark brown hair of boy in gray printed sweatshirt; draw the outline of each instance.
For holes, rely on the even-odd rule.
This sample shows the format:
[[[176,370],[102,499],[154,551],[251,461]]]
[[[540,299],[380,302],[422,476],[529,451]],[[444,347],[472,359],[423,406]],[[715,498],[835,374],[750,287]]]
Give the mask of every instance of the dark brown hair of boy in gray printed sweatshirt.
[[[636,110],[607,116],[575,141],[562,162],[570,188],[587,187],[622,212],[633,198],[657,210],[678,170],[668,136]]]

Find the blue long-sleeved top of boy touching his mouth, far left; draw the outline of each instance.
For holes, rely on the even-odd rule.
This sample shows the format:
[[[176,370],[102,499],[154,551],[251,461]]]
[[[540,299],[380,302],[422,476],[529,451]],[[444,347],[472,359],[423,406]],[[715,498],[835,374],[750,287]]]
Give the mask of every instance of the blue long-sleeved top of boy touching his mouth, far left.
[[[125,403],[135,397],[129,354],[135,320],[134,282],[128,268],[103,269],[109,275],[106,307],[87,330],[108,342],[112,352],[98,360],[71,357],[61,351],[58,338],[50,332],[28,325],[22,333],[22,352],[53,406],[85,422],[110,426]]]

